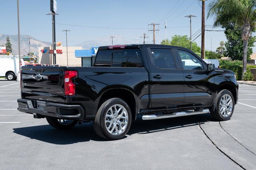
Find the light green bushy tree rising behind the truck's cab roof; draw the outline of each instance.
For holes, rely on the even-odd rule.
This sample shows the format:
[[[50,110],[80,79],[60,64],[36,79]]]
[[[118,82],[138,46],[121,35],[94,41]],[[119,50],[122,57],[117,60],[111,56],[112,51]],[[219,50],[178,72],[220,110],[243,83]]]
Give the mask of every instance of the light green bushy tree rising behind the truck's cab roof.
[[[185,47],[190,49],[190,39],[188,38],[188,36],[179,36],[179,35],[175,35],[172,36],[172,40],[162,40],[161,44],[163,45],[174,45],[174,46],[179,46],[179,47]],[[201,52],[201,48],[195,43],[192,42],[192,51],[194,53],[200,53]]]

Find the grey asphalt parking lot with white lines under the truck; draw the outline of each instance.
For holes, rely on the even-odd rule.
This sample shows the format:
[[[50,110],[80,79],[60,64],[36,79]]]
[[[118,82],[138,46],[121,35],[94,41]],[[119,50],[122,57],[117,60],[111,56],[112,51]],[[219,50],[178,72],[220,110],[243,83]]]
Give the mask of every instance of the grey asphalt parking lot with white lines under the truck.
[[[92,123],[57,130],[17,111],[20,84],[0,81],[1,169],[256,169],[256,87],[239,85],[229,121],[210,114],[132,123],[99,138]]]

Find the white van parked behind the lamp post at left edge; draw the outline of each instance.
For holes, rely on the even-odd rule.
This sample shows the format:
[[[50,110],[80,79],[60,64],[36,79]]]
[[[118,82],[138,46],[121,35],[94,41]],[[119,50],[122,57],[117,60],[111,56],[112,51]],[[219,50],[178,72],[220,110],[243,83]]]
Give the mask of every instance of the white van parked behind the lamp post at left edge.
[[[0,77],[6,77],[7,80],[15,80],[19,72],[19,64],[24,65],[23,59],[19,63],[18,56],[0,55]]]

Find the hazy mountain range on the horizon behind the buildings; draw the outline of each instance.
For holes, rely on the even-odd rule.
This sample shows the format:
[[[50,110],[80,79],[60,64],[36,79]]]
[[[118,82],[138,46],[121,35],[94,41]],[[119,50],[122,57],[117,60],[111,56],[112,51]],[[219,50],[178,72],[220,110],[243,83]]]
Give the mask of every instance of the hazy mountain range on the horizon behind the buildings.
[[[10,42],[12,43],[12,53],[17,54],[18,53],[18,35],[7,35],[7,34],[0,34],[0,46],[6,44],[6,37],[9,36]],[[94,46],[104,46],[104,45],[111,45],[112,39],[110,36],[114,36],[113,38],[113,44],[136,44],[136,43],[142,43],[142,38],[125,38],[121,34],[116,35],[109,35],[102,38],[96,38],[94,40],[86,40],[84,42],[75,44],[74,46],[82,46],[83,48],[91,48]],[[37,51],[37,45],[38,47],[50,47],[51,42],[44,42],[41,40],[38,40],[32,36],[29,35],[21,35],[20,36],[20,53],[22,55],[29,53],[29,39],[30,37],[30,52]]]

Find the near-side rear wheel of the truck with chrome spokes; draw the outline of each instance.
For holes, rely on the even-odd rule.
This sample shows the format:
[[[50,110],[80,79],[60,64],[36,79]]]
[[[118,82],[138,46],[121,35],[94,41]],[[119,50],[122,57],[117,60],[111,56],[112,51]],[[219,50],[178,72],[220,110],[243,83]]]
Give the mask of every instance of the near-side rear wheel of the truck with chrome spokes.
[[[98,109],[93,127],[101,138],[118,140],[126,135],[131,123],[132,113],[127,103],[122,99],[112,98],[106,100]]]

